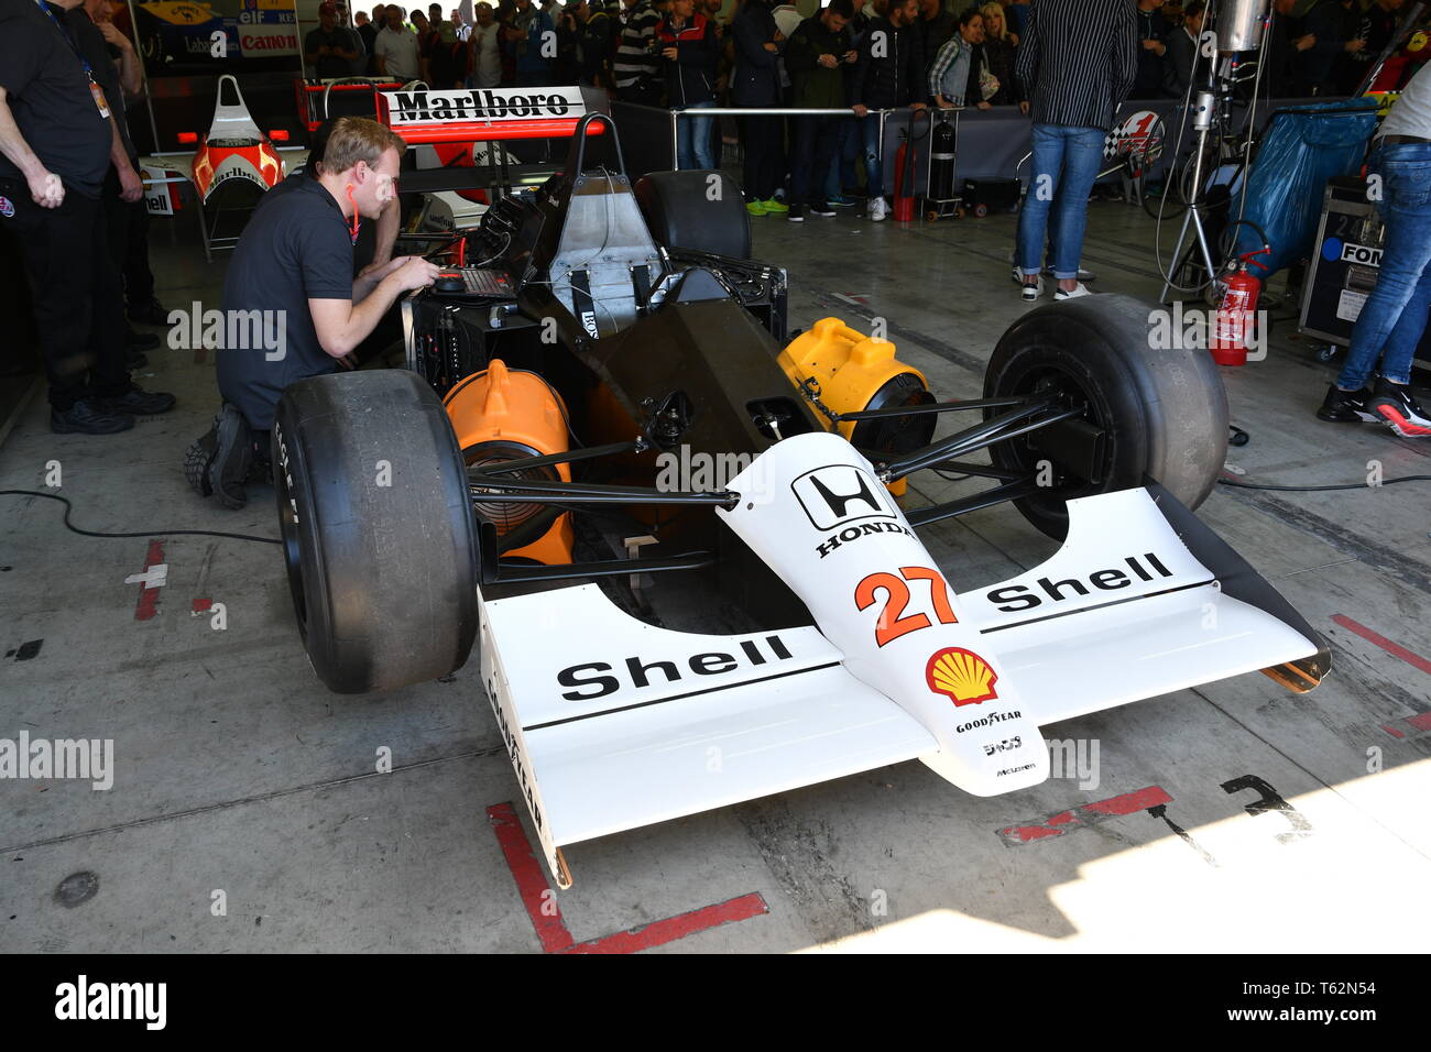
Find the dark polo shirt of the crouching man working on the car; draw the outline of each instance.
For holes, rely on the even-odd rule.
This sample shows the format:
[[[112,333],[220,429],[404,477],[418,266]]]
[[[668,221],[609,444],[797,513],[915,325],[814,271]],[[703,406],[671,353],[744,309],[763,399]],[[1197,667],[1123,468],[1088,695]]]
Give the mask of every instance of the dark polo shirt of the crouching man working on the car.
[[[252,335],[248,346],[225,344],[218,355],[219,392],[260,431],[273,427],[273,408],[289,384],[338,369],[318,342],[308,301],[351,301],[353,291],[352,238],[338,202],[315,179],[289,177],[282,186],[283,193],[275,187],[265,195],[223,281],[226,333],[269,335],[283,319],[282,356],[270,359],[278,348]],[[256,326],[235,321],[250,311],[265,312]]]

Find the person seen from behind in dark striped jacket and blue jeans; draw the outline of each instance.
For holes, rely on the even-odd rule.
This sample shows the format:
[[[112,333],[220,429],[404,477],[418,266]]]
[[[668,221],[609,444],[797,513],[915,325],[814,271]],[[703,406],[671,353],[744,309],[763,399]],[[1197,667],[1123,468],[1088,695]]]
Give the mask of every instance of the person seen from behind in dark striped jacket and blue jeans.
[[[1015,242],[1023,299],[1042,291],[1039,260],[1052,223],[1055,299],[1086,296],[1078,279],[1088,195],[1103,139],[1138,70],[1128,0],[1033,0],[1016,72],[1032,103],[1033,167]]]

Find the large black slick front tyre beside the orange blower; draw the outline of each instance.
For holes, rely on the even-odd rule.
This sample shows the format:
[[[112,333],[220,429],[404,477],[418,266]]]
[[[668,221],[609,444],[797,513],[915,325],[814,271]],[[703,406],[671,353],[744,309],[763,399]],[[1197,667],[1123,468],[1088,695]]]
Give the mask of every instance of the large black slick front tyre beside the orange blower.
[[[462,667],[477,634],[477,525],[442,402],[406,369],[299,381],[273,418],[293,613],[339,694]]]

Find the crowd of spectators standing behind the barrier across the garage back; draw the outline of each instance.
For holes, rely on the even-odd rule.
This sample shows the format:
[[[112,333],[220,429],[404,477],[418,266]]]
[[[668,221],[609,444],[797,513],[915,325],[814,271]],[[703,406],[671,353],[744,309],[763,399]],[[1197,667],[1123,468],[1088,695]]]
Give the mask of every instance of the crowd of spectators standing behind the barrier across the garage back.
[[[1205,0],[1130,3],[1129,97],[1183,97],[1205,74]],[[1365,9],[1362,0],[1274,3],[1265,76],[1274,96],[1296,97],[1351,92],[1391,37],[1404,0],[1369,0]],[[847,109],[847,119],[737,122],[750,212],[796,220],[851,205],[861,156],[866,186],[881,185],[877,110],[1029,106],[1016,74],[1027,0],[963,10],[946,0],[831,0],[809,19],[776,0],[499,0],[472,10],[468,24],[456,10],[444,19],[441,4],[426,14],[379,6],[371,19],[359,13],[356,30],[335,29],[331,14],[321,14],[305,53],[323,76],[349,63],[434,87],[581,83],[622,102],[683,110]],[[335,43],[335,34],[346,36]],[[356,59],[352,44],[361,49]],[[681,119],[683,169],[716,167],[720,146],[714,119]],[[883,219],[880,195],[867,199],[870,218]]]

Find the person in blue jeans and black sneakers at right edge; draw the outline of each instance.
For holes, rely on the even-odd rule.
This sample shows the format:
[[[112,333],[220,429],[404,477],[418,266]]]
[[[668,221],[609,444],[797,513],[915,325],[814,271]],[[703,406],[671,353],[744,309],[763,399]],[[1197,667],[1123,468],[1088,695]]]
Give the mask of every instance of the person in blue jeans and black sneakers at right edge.
[[[1381,189],[1381,268],[1317,415],[1332,424],[1381,419],[1398,435],[1431,438],[1431,412],[1411,392],[1411,359],[1431,305],[1431,66],[1411,77],[1381,122],[1367,169],[1368,186]]]

